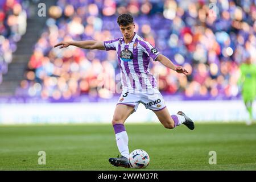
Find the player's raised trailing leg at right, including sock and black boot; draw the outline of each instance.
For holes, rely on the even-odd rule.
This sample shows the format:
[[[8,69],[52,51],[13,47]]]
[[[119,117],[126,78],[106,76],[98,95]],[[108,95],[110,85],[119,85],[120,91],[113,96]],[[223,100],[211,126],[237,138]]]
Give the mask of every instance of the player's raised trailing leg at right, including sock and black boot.
[[[184,124],[189,129],[195,129],[195,125],[191,119],[189,119],[182,111],[179,111],[177,114],[170,115],[167,107],[164,107],[161,110],[152,110],[158,117],[159,121],[167,129],[174,129],[175,127]]]

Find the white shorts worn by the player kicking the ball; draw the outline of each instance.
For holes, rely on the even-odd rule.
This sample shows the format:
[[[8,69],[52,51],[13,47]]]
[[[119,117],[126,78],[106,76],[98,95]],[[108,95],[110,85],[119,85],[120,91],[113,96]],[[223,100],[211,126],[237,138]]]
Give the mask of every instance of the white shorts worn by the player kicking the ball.
[[[142,103],[146,109],[154,111],[162,110],[166,107],[163,96],[158,89],[151,89],[146,92],[123,90],[117,104],[132,106],[134,111],[136,111],[139,103]]]

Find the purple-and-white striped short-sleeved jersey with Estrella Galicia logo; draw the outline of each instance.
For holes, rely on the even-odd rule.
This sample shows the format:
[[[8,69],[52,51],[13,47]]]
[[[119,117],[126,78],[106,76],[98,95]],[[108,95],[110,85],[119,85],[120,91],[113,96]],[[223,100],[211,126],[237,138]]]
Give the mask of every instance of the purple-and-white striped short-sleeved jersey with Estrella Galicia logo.
[[[135,33],[126,44],[123,37],[104,41],[106,51],[117,51],[123,90],[149,90],[157,88],[155,77],[150,73],[150,57],[155,61],[161,53]]]

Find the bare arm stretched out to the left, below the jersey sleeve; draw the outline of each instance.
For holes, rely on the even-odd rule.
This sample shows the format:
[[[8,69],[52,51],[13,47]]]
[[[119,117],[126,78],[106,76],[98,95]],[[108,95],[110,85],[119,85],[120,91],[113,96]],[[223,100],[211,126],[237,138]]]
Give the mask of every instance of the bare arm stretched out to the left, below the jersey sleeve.
[[[99,49],[99,50],[105,50],[103,42],[95,41],[95,40],[84,40],[84,41],[78,41],[78,42],[60,42],[57,43],[54,47],[60,46],[60,49],[63,47],[68,46],[76,46],[84,49]]]

